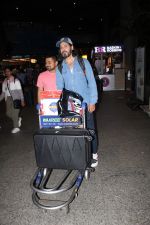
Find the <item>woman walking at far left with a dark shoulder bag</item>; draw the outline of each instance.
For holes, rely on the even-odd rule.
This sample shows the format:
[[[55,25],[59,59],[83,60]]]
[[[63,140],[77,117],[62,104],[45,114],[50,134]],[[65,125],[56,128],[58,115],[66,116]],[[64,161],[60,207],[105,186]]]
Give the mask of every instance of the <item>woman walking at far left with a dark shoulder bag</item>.
[[[2,93],[0,95],[0,101],[5,99],[6,102],[6,115],[13,121],[13,129],[11,133],[15,134],[20,131],[21,120],[19,118],[20,109],[15,109],[13,100],[20,99],[22,107],[24,104],[24,96],[21,88],[20,81],[13,76],[12,68],[6,67],[4,69],[5,80],[2,84]]]

